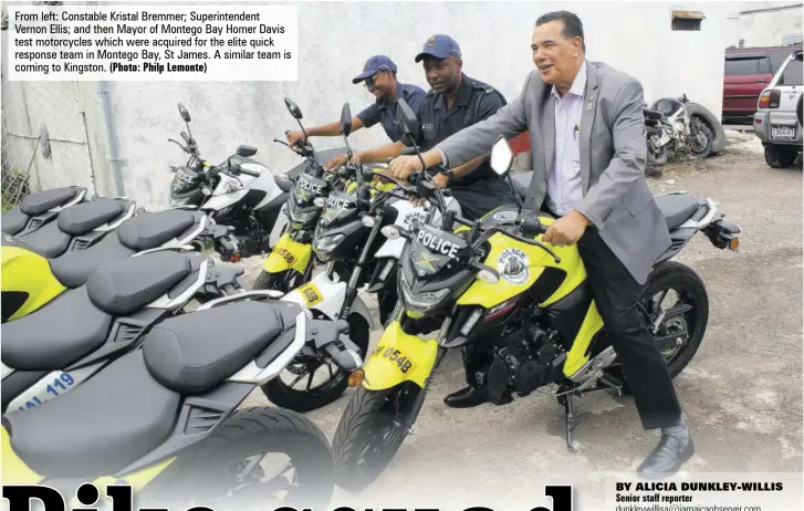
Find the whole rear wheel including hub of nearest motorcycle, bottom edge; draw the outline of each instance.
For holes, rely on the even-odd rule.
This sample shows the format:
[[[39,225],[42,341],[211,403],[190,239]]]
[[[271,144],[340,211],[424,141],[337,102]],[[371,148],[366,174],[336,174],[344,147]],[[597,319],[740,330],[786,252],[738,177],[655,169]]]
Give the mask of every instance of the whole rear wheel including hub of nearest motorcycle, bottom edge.
[[[289,461],[260,463],[269,455]],[[292,476],[288,477],[292,472]],[[208,439],[192,446],[137,494],[137,504],[215,510],[324,509],[335,488],[330,444],[312,421],[280,408],[234,413]]]

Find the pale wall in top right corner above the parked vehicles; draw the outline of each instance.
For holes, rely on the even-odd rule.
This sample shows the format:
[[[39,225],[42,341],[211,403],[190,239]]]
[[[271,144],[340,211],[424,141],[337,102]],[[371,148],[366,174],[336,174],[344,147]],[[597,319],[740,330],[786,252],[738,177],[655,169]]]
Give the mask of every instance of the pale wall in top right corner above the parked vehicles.
[[[802,36],[801,2],[741,2],[734,40],[729,44],[744,46],[780,46],[785,36]],[[768,9],[764,12],[758,12]]]

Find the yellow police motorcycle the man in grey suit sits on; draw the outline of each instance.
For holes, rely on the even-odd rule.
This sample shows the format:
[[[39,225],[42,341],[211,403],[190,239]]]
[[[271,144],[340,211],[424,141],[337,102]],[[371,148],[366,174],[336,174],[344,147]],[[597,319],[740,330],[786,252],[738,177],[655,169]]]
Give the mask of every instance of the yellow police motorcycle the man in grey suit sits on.
[[[409,107],[401,111],[405,129],[417,128]],[[512,163],[513,153],[501,136],[492,148],[491,166],[503,175]],[[419,188],[432,204],[439,202],[435,186],[429,194]],[[657,202],[674,242],[656,261],[640,310],[675,377],[701,344],[709,299],[695,271],[670,259],[699,231],[714,247],[737,250],[741,229],[725,222],[709,198],[680,192],[659,196]],[[452,230],[452,221],[461,226]],[[519,208],[501,207],[478,221],[447,211],[440,228],[383,229],[389,239],[406,240],[398,272],[400,302],[376,348],[349,376],[358,388],[333,438],[340,486],[359,490],[390,462],[448,350],[494,340],[485,378],[488,399],[497,405],[511,403],[514,394],[524,397],[557,385],[571,449],[573,398],[623,389],[622,368],[585,285],[577,246],[540,240],[553,221],[542,212],[523,211],[520,201]],[[668,294],[676,303],[671,299],[666,306]],[[437,328],[432,338],[416,335]]]

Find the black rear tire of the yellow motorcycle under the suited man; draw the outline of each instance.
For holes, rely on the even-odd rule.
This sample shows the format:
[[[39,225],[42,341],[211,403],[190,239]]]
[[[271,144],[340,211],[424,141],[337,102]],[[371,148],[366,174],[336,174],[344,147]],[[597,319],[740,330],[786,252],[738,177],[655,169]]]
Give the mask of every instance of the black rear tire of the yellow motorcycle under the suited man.
[[[675,355],[667,366],[670,378],[676,378],[689,365],[692,357],[698,353],[698,348],[701,346],[709,322],[709,295],[698,273],[677,261],[662,262],[650,273],[647,285],[640,295],[640,302],[656,296],[666,289],[681,289],[695,303],[693,309],[690,311],[692,321],[687,321],[689,334],[687,344]],[[613,364],[605,372],[622,380],[624,393],[630,393],[623,375],[623,369],[618,363]]]

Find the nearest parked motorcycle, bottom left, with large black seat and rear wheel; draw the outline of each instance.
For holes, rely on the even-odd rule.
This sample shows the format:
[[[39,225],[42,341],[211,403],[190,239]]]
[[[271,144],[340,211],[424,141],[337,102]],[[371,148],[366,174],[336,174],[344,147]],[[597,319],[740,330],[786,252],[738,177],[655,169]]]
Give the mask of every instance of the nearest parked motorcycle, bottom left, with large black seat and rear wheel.
[[[109,283],[108,274],[94,273],[86,293],[101,292],[98,306],[125,312],[130,305],[123,298],[135,295],[134,288],[103,292]],[[344,371],[361,361],[335,322],[315,320],[297,303],[273,300],[274,293],[238,293],[168,317],[140,336],[139,348],[80,386],[71,385],[74,373],[45,378],[48,388],[74,388],[3,416],[3,481],[50,487],[65,496],[92,482],[101,494],[119,491],[123,500],[129,498],[118,484],[129,484],[143,509],[325,508],[334,481],[322,431],[291,410],[240,406],[301,351],[326,351]],[[156,312],[154,302],[150,307]],[[108,341],[101,343],[108,347]],[[3,343],[3,356],[6,350]],[[269,453],[290,460],[264,467]]]

